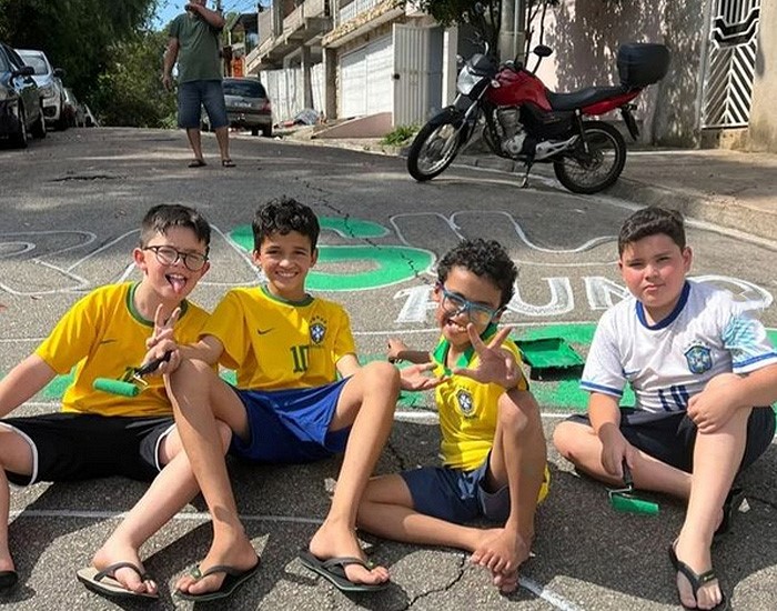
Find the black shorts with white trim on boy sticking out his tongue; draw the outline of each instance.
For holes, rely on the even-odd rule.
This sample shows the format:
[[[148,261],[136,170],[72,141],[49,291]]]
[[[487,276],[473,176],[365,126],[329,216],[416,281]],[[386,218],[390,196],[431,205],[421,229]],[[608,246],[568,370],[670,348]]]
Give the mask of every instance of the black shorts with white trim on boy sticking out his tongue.
[[[110,475],[151,481],[160,472],[159,445],[172,430],[170,417],[115,417],[58,412],[7,418],[32,450],[30,475],[7,471],[17,485]]]

